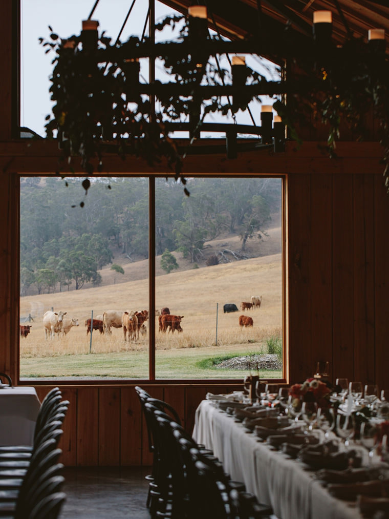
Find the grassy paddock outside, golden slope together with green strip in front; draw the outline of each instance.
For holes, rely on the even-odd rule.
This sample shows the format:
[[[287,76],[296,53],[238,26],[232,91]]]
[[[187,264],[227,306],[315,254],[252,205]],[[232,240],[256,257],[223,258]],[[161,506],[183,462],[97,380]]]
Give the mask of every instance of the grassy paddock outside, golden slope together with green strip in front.
[[[221,303],[216,313],[215,301],[239,306],[252,292],[263,295],[259,309],[245,312],[253,317],[254,327],[241,329],[242,312],[223,313]],[[31,333],[20,339],[20,376],[148,378],[148,335],[126,343],[121,329],[111,336],[93,332],[90,353],[84,325],[90,309],[99,315],[105,309],[147,308],[146,294],[147,283],[141,280],[21,298],[22,315],[31,313],[34,322]],[[158,378],[242,378],[247,371],[205,368],[199,361],[229,353],[267,353],[269,338],[282,337],[281,255],[160,276],[156,299],[158,307],[168,306],[171,313],[184,316],[182,333],[156,332]],[[45,340],[42,318],[51,307],[78,318],[79,326],[65,337]],[[261,376],[278,378],[281,373]]]

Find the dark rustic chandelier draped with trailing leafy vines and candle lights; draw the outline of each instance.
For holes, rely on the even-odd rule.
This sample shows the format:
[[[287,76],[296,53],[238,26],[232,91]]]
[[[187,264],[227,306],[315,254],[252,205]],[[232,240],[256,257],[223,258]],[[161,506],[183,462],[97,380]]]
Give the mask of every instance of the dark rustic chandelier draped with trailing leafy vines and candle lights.
[[[91,19],[94,8],[82,22],[80,35],[64,39],[50,28],[50,40],[40,38],[46,51],[56,54],[47,135],[58,132],[63,158],[70,162],[72,156],[81,156],[88,175],[102,170],[104,154],[118,153],[123,158],[142,157],[150,165],[166,160],[178,178],[187,153],[198,149],[204,153],[203,146],[189,148],[201,141],[201,131],[223,132],[227,156],[234,158],[247,148],[282,152],[285,136],[298,141],[299,128],[315,124],[315,119],[328,126],[327,144],[333,154],[342,124],[364,136],[368,111],[379,122],[387,173],[389,69],[383,29],[371,29],[367,40],[348,31],[344,44],[335,46],[331,12],[316,11],[311,46],[302,46],[288,30],[266,41],[256,36],[229,41],[218,31],[211,34],[209,21],[216,24],[205,5],[193,5],[187,16],[172,15],[159,24],[152,20],[149,7],[148,37],[145,23],[141,38],[131,36],[121,43],[118,37],[112,43],[104,32],[99,35],[99,22]],[[183,28],[177,38],[156,42],[155,31],[174,28],[179,21]],[[223,55],[227,68],[220,65]],[[271,81],[250,69],[247,55],[272,57],[280,79]],[[140,74],[140,60],[145,58],[150,63],[148,81]],[[168,81],[155,78],[157,59]],[[263,104],[265,95],[273,102]],[[260,126],[249,106],[254,100],[261,104]],[[252,125],[237,124],[239,110],[248,111]],[[232,116],[233,122],[205,122],[210,113]],[[177,130],[189,134],[184,148],[172,138]],[[240,139],[243,135],[252,139]],[[214,152],[215,147],[210,149]]]

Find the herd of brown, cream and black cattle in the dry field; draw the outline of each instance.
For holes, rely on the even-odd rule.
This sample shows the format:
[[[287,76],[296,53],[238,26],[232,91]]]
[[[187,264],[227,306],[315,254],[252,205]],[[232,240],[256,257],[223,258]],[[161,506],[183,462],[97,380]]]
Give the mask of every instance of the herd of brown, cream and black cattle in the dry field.
[[[241,309],[251,310],[259,308],[261,306],[262,296],[252,296],[250,303],[242,302]],[[238,311],[237,305],[233,303],[227,303],[223,307],[224,313]],[[54,339],[55,335],[65,336],[73,326],[79,326],[78,319],[65,318],[67,312],[54,312],[48,310],[43,316],[43,327],[45,330],[45,338]],[[156,316],[158,316],[158,330],[160,332],[168,333],[172,331],[174,333],[182,332],[181,321],[184,316],[176,316],[170,313],[168,307],[163,307],[161,311],[156,310]],[[98,315],[93,319],[89,318],[85,321],[87,327],[87,335],[91,330],[99,331],[100,334],[110,335],[111,328],[122,328],[124,340],[137,340],[140,335],[145,335],[146,325],[145,322],[148,320],[148,310],[141,311],[122,311],[122,310],[105,310],[103,315]],[[239,317],[239,326],[253,326],[253,319],[248,316]],[[27,337],[30,333],[31,324],[20,324],[20,336]]]

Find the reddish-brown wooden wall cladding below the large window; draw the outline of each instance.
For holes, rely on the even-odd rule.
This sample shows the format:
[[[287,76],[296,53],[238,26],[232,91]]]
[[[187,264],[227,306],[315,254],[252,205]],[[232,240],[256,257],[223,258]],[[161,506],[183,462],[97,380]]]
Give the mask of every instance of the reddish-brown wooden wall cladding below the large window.
[[[53,386],[36,386],[42,401]],[[196,408],[211,390],[215,393],[242,389],[242,384],[209,386],[143,385],[154,398],[172,405],[185,429],[192,433]],[[130,386],[60,386],[70,402],[59,447],[61,462],[68,467],[150,466],[147,428],[140,401]]]

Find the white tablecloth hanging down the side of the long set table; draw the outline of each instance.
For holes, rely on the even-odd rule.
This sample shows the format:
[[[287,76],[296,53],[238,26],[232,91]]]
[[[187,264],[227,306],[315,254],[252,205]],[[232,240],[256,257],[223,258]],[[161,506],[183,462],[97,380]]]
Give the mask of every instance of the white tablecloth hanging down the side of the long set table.
[[[358,519],[354,504],[332,497],[314,473],[258,442],[240,422],[204,400],[196,411],[193,438],[213,450],[233,480],[245,483],[282,519]]]

